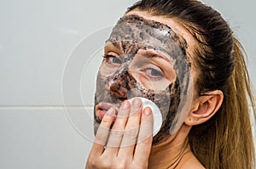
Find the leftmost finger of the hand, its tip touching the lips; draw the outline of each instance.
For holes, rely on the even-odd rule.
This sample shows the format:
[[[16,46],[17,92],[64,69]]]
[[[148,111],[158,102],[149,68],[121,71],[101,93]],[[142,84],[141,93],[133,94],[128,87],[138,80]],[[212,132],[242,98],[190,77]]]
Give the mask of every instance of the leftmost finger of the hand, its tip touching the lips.
[[[114,115],[115,109],[111,107],[103,116],[102,122],[96,132],[96,138],[90,151],[91,154],[102,155],[104,146],[106,145],[108,140],[109,128],[111,127],[113,119],[115,118]]]

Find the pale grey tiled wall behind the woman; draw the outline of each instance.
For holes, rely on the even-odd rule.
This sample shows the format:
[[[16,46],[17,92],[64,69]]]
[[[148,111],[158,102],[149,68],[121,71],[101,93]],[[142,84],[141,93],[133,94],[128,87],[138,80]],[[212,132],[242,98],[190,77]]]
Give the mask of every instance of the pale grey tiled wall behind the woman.
[[[101,47],[134,2],[0,1],[0,168],[84,168]],[[255,87],[255,2],[204,2],[241,39]]]

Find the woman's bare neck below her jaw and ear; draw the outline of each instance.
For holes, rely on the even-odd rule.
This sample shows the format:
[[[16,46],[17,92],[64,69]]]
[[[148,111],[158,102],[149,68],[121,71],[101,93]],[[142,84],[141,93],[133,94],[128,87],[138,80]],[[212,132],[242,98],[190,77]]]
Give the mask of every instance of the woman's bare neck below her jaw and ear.
[[[177,168],[183,156],[190,152],[189,140],[186,131],[188,128],[181,128],[172,135],[165,143],[155,145],[151,149],[148,161],[148,168],[172,169]]]

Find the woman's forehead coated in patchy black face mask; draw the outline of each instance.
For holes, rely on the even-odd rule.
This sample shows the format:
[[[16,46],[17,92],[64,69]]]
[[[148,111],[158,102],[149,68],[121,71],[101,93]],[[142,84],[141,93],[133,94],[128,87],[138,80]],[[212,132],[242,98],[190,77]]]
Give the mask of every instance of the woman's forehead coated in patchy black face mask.
[[[163,23],[146,20],[137,14],[121,18],[107,41],[107,46],[121,48],[124,54],[136,54],[139,49],[154,49],[168,58],[186,59],[187,42]]]

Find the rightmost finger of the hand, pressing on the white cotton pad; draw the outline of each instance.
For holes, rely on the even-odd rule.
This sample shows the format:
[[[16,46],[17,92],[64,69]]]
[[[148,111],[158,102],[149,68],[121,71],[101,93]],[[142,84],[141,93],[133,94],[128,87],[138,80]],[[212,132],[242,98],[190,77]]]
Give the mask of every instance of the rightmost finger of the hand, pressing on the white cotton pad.
[[[137,138],[137,145],[134,153],[136,164],[148,162],[153,140],[153,115],[152,110],[146,107],[143,110],[141,127]]]

